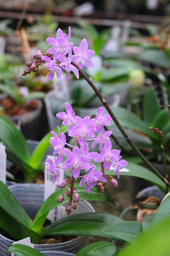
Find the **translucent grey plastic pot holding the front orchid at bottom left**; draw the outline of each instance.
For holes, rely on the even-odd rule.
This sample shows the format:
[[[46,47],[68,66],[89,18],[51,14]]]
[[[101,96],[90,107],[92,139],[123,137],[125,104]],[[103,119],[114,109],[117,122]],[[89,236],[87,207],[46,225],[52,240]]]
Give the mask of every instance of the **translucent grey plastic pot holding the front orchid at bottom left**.
[[[44,185],[41,184],[14,184],[9,186],[9,189],[17,198],[19,203],[28,213],[29,217],[34,218],[40,206],[43,203],[44,198]],[[38,195],[38,196],[37,196]],[[93,207],[87,201],[79,201],[76,210],[72,214],[79,214],[83,212],[95,212]],[[76,239],[62,243],[40,244],[34,245],[34,248],[38,251],[42,250],[59,250],[70,253],[77,253],[81,248],[85,247],[90,240],[90,237],[78,236]],[[0,256],[6,254],[9,246],[14,241],[10,240],[0,234]],[[47,254],[48,255],[48,254]],[[50,254],[49,254],[50,255]]]

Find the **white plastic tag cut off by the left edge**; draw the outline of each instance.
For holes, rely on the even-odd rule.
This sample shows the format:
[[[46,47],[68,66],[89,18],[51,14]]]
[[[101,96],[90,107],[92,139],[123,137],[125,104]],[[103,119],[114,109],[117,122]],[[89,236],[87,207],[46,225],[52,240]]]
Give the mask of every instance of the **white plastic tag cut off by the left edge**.
[[[6,184],[6,153],[5,146],[0,143],[0,181]]]

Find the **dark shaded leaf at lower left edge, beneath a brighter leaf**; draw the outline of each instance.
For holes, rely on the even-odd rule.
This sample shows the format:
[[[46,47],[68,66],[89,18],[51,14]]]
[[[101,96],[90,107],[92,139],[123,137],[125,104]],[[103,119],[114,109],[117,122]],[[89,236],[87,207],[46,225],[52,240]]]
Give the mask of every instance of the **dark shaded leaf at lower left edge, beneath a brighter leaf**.
[[[28,232],[24,226],[14,220],[0,207],[0,227],[17,240],[28,237]]]

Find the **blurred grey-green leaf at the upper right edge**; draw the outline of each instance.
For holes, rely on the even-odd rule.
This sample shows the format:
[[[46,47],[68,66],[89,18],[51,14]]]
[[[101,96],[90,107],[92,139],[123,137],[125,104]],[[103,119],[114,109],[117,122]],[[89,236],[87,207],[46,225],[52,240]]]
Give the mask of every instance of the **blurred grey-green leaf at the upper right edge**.
[[[161,68],[167,69],[170,65],[170,60],[164,51],[146,49],[139,53],[138,57],[142,60],[149,61],[150,63]]]

